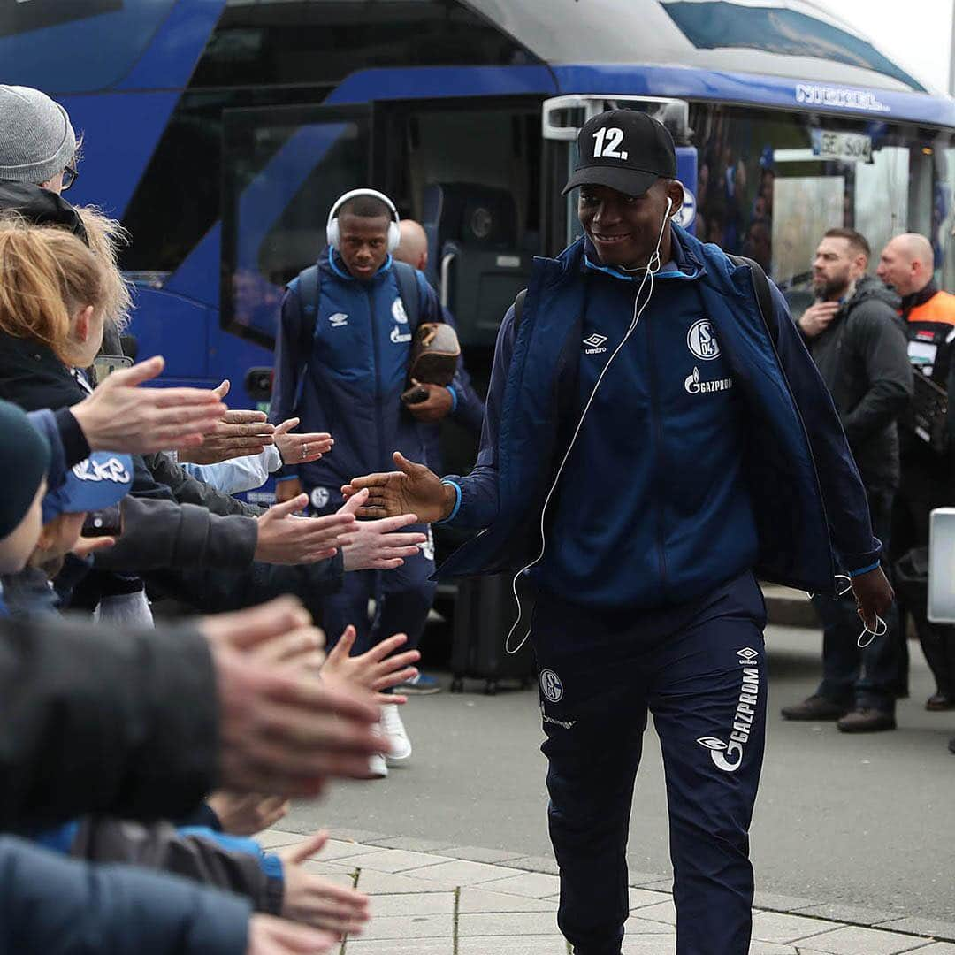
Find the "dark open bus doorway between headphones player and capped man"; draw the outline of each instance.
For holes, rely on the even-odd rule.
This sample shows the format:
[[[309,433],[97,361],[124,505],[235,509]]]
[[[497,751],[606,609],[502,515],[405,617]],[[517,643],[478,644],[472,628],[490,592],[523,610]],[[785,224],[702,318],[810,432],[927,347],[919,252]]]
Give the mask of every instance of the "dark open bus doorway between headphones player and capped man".
[[[461,344],[493,346],[540,241],[540,101],[385,109],[384,165],[399,209],[428,236],[428,278]]]

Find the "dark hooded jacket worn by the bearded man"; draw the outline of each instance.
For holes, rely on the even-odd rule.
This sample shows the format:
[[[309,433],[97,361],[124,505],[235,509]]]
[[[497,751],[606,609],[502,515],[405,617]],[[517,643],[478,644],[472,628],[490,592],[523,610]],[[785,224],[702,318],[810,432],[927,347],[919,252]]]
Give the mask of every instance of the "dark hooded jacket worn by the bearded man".
[[[865,275],[806,345],[832,394],[867,488],[899,486],[898,420],[912,397],[899,296]]]

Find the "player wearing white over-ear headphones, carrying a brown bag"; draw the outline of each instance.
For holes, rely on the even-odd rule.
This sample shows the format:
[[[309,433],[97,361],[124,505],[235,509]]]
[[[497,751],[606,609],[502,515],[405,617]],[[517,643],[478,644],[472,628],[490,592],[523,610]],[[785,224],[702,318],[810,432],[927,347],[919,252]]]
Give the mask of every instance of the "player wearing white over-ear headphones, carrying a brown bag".
[[[271,407],[273,420],[294,415],[308,431],[321,422],[334,438],[331,452],[317,461],[286,461],[277,480],[279,500],[307,493],[316,516],[342,506],[340,489],[351,475],[387,467],[394,447],[420,457],[435,440],[437,422],[456,412],[456,382],[428,386],[427,399],[407,408],[401,401],[414,330],[443,314],[424,276],[393,259],[400,240],[394,202],[375,189],[352,189],[331,205],[326,235],[328,248],[316,249],[315,265],[288,284]],[[400,530],[387,560],[346,574],[323,603],[329,641],[353,625],[355,653],[394,633],[406,633],[406,647],[415,647],[435,595],[434,547],[426,525]],[[382,727],[393,744],[390,758],[407,759],[412,744],[396,707],[383,708]],[[384,756],[373,758],[371,772],[387,775]]]

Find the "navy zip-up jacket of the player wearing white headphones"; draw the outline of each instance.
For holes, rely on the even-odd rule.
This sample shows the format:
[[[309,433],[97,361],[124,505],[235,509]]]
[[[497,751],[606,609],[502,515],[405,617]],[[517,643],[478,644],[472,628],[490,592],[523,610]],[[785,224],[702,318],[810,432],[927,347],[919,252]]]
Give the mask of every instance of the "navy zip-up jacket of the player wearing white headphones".
[[[288,284],[282,302],[270,420],[298,416],[301,430],[327,431],[335,446],[317,461],[289,462],[282,477],[299,477],[306,488],[338,488],[356,475],[391,470],[393,451],[438,467],[439,425],[417,421],[401,403],[414,329],[446,318],[434,289],[415,271],[420,309],[409,321],[391,256],[368,282],[352,278],[331,249],[318,267],[318,313],[308,353],[303,337],[312,303],[302,302],[300,277]],[[452,414],[476,423],[482,405],[460,364],[450,387]]]

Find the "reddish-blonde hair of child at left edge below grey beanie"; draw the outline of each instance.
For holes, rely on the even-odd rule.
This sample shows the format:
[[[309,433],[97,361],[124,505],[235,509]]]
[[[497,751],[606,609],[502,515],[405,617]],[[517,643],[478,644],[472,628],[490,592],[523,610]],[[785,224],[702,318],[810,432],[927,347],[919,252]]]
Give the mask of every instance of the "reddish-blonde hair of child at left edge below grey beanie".
[[[76,308],[103,308],[108,273],[82,240],[57,226],[0,219],[0,329],[65,360]]]

